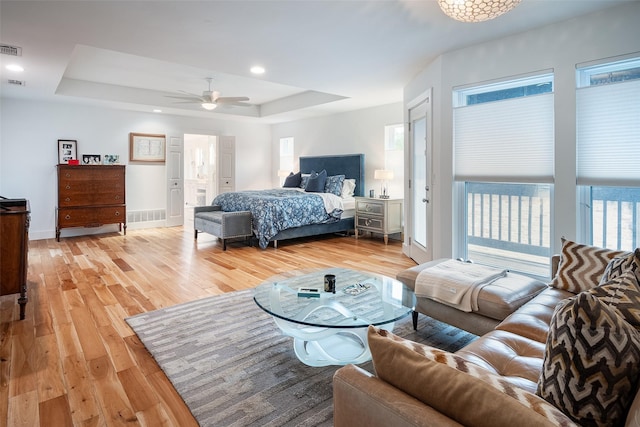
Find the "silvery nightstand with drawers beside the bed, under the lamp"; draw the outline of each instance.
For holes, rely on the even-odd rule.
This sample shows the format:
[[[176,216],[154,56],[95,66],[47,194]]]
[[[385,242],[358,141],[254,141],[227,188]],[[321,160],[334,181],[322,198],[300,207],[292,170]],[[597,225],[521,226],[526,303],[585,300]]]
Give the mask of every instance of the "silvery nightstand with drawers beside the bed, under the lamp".
[[[384,244],[389,242],[389,234],[402,233],[403,199],[375,199],[356,197],[356,238],[360,230],[380,233]]]

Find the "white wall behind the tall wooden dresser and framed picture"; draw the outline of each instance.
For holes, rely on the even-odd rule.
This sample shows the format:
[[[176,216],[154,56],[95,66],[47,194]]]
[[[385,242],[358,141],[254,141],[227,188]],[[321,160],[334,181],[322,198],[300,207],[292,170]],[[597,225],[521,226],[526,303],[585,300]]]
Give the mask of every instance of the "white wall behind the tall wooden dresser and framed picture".
[[[55,236],[58,139],[76,139],[78,155],[118,154],[128,165],[129,132],[185,133],[236,137],[236,188],[271,185],[270,126],[245,121],[197,119],[121,111],[69,103],[2,99],[0,118],[0,195],[27,198],[31,204],[31,239]],[[127,210],[166,208],[164,165],[127,166]],[[87,232],[86,230],[84,232]],[[63,235],[73,234],[65,229]]]

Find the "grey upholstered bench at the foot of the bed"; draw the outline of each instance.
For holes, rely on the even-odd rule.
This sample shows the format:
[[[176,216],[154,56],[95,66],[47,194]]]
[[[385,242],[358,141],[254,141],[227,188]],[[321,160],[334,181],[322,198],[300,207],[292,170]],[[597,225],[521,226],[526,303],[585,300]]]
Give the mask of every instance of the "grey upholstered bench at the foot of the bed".
[[[198,231],[222,240],[222,250],[227,250],[227,239],[249,237],[251,244],[251,212],[223,212],[220,206],[196,206],[193,212],[194,239]]]

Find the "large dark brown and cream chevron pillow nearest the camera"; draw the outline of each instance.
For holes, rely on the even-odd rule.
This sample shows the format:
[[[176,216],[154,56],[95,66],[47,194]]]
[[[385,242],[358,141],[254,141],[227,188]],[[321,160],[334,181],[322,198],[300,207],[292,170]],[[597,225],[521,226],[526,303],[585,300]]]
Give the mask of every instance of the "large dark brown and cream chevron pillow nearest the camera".
[[[622,425],[640,375],[640,332],[589,292],[558,304],[537,394],[580,425]]]

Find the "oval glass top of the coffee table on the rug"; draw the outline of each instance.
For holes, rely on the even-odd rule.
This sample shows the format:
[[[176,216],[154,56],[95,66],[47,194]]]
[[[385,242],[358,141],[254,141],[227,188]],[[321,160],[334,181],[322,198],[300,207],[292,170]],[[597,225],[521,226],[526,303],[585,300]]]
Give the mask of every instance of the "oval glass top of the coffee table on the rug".
[[[324,291],[325,274],[336,276],[336,292]],[[319,295],[299,296],[309,288]],[[402,282],[344,268],[297,270],[275,276],[254,290],[256,304],[276,318],[323,328],[366,328],[407,316],[415,296]]]

